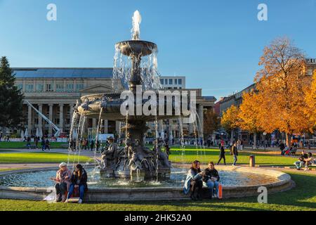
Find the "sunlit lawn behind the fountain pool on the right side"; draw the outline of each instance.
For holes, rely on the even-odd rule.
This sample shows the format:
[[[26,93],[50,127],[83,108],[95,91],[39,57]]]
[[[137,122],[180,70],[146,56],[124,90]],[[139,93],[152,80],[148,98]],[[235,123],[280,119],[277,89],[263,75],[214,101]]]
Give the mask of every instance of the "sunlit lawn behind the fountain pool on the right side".
[[[218,162],[218,149],[196,149],[196,148],[185,148],[184,150],[180,148],[171,148],[170,160],[172,162],[193,162],[194,160],[199,160],[202,163],[208,163],[213,161]],[[249,155],[256,156],[256,164],[258,165],[282,165],[282,166],[293,166],[296,158],[290,158],[281,155],[268,155],[261,153],[246,153],[239,151],[237,164],[249,164]],[[230,151],[226,150],[226,163],[232,164],[233,158],[230,155]],[[223,163],[223,160],[222,162]]]

